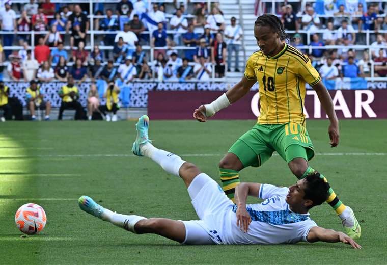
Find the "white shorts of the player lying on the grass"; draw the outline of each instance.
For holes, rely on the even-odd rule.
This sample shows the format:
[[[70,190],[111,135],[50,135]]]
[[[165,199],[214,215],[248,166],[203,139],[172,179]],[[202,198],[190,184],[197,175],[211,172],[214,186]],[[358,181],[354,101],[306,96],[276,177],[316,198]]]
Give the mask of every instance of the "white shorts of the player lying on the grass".
[[[221,231],[228,225],[228,218],[225,216],[231,211],[234,203],[218,183],[204,173],[193,179],[188,193],[200,221],[183,221],[186,229],[183,243],[224,244]]]

